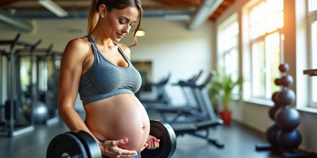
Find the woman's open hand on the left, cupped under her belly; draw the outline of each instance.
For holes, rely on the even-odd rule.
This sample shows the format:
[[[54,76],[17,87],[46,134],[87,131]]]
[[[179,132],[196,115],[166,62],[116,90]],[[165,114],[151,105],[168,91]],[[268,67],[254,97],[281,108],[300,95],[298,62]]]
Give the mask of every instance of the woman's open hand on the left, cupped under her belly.
[[[118,147],[120,144],[125,144],[128,142],[128,139],[120,139],[120,140],[107,140],[103,143],[99,143],[99,148],[101,150],[101,154],[115,158],[115,157],[128,157],[131,158],[135,155],[138,155],[136,151],[125,150]]]

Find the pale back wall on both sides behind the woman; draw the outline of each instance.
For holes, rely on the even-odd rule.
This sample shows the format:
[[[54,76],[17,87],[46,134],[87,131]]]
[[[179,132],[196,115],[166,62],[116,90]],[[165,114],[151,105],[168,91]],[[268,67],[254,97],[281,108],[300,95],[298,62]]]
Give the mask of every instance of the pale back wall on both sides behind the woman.
[[[35,30],[32,33],[22,33],[21,40],[35,43],[42,39],[39,47],[54,44],[54,50],[63,51],[67,42],[86,35],[87,19],[47,19],[33,20]],[[171,83],[180,79],[188,79],[199,70],[211,70],[212,23],[207,22],[196,31],[185,28],[185,21],[167,21],[164,19],[142,19],[141,29],[146,35],[138,37],[137,46],[131,47],[132,61],[152,61],[153,82],[171,75]],[[70,33],[69,30],[82,30],[80,33]],[[0,40],[14,39],[16,30],[0,25]],[[127,46],[134,44],[132,32],[120,43]],[[179,88],[167,87],[172,103],[183,104],[184,98]],[[76,109],[82,110],[79,96]]]

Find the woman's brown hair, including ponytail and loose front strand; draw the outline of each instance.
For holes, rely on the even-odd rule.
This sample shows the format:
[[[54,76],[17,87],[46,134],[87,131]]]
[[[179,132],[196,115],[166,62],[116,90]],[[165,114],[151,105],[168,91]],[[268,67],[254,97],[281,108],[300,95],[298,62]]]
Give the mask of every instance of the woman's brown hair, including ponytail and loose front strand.
[[[87,29],[88,34],[90,34],[96,27],[97,21],[99,19],[99,6],[101,4],[105,4],[109,12],[112,12],[113,9],[124,9],[128,6],[134,6],[139,9],[140,19],[139,19],[138,26],[135,28],[135,31],[133,34],[134,45],[131,45],[129,47],[135,46],[137,44],[137,38],[135,34],[139,30],[141,19],[143,16],[143,9],[142,9],[140,0],[92,0],[89,7],[89,13],[88,13],[88,29]]]

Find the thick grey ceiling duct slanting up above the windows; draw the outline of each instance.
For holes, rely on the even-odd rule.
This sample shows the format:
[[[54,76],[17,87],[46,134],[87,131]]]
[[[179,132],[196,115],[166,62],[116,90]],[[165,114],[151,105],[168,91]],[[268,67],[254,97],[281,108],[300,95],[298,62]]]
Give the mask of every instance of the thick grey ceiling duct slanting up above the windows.
[[[216,11],[223,0],[204,0],[188,25],[189,30],[200,27]]]

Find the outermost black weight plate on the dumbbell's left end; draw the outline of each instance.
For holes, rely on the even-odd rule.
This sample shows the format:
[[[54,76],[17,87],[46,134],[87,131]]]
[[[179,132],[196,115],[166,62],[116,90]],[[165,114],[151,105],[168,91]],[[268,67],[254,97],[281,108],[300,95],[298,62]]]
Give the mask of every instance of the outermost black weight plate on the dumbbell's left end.
[[[81,141],[72,134],[64,133],[53,138],[49,143],[46,158],[63,156],[87,158],[87,152]]]

